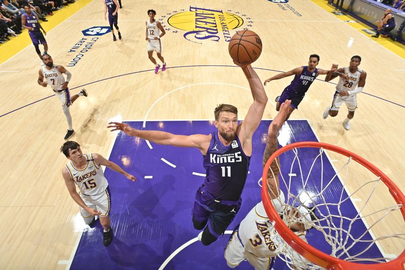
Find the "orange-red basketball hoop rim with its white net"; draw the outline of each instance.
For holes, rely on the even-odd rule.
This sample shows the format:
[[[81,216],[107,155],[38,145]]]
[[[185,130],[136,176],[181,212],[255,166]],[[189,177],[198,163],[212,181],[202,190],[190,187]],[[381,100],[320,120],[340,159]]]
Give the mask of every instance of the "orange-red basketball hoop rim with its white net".
[[[324,161],[324,159],[329,161],[327,157],[327,150],[331,153],[334,152],[332,155],[336,155],[335,153],[338,153],[340,155],[348,157],[347,162],[340,170],[333,170],[333,173],[335,173],[335,175],[332,177],[331,180],[325,180],[325,175],[327,173],[324,172],[324,168],[332,167],[332,165],[328,165]],[[311,155],[313,157],[313,162],[309,169],[302,168],[301,166],[302,162],[300,161],[298,154],[303,152],[305,152],[306,160],[312,159]],[[311,153],[311,155],[307,155],[308,153]],[[323,234],[323,236],[325,236],[325,246],[330,245],[330,247],[326,248],[329,251],[326,252],[329,252],[330,254],[327,254],[326,252],[319,250],[318,248],[300,239],[286,225],[286,223],[279,216],[270,201],[267,191],[267,173],[269,169],[272,173],[271,168],[269,168],[270,164],[281,155],[291,155],[290,160],[292,156],[294,156],[291,162],[292,165],[289,173],[289,181],[286,181],[285,177],[282,176],[282,171],[279,166],[279,163],[282,163],[281,160],[279,163],[276,160],[277,166],[279,167],[280,171],[280,189],[283,190],[286,194],[286,205],[290,207],[305,206],[306,203],[308,203],[309,201],[315,206],[316,210],[314,210],[314,212],[317,212],[316,216],[318,219],[314,221],[313,225],[316,230],[313,230],[311,232],[314,232],[314,235]],[[355,161],[355,163],[353,163],[352,161]],[[308,165],[308,163],[306,164]],[[349,183],[350,179],[348,180],[348,175],[350,175],[348,174],[349,164],[353,164],[350,166],[353,166],[354,168],[361,167],[362,170],[371,175],[372,179],[375,179],[376,176],[377,179],[366,181],[365,183],[361,181],[354,181],[355,184],[359,184],[360,186],[352,192],[352,195],[349,195],[346,191],[347,186],[351,184]],[[292,182],[292,177],[296,176],[296,174],[293,173],[293,167],[296,168],[297,166],[299,166],[299,170],[296,171],[297,174],[300,175],[298,176],[298,179],[293,178],[294,180]],[[307,167],[309,167],[309,165]],[[283,165],[283,168],[286,169],[285,165]],[[308,172],[306,172],[305,169],[308,169]],[[311,176],[311,172],[312,174],[315,174],[315,176]],[[317,173],[319,172],[320,176],[318,177]],[[356,172],[358,171],[356,170],[354,173]],[[341,173],[345,173],[345,179],[342,179],[344,177],[340,176]],[[331,175],[330,171],[329,175]],[[274,228],[277,230],[277,233],[286,242],[286,246],[278,247],[280,253],[283,253],[280,254],[279,257],[281,257],[282,260],[286,261],[287,265],[290,268],[292,268],[291,265],[294,265],[303,269],[319,269],[320,267],[327,269],[360,270],[405,269],[405,249],[400,254],[398,254],[396,258],[387,258],[384,255],[382,257],[381,255],[379,255],[380,257],[376,258],[366,256],[367,251],[371,253],[373,248],[379,248],[379,245],[381,243],[380,241],[392,241],[395,239],[395,241],[403,241],[400,244],[401,247],[405,246],[405,234],[403,233],[403,226],[401,233],[390,233],[376,239],[374,239],[373,237],[373,226],[375,226],[376,224],[377,226],[382,225],[384,224],[384,222],[388,222],[385,220],[383,221],[384,218],[388,219],[387,216],[395,214],[400,217],[400,220],[405,220],[405,196],[381,170],[376,168],[370,162],[359,157],[355,153],[331,144],[320,142],[297,142],[284,146],[273,153],[264,167],[262,179],[262,200],[264,208],[269,217],[269,220],[273,223]],[[315,189],[317,188],[315,194],[313,193],[313,191],[312,193],[309,192],[311,193],[311,195],[306,196],[307,199],[302,199],[302,195],[307,193],[306,188],[308,188],[310,182],[314,179],[316,179],[316,181],[320,181],[320,183],[313,185],[315,186]],[[296,189],[299,191],[294,190],[293,188],[293,185],[297,182],[299,182],[300,188]],[[366,211],[368,210],[367,206],[369,206],[369,204],[371,205],[375,203],[372,202],[372,196],[373,194],[375,194],[376,190],[380,190],[377,188],[377,185],[381,182],[388,187],[389,193],[392,196],[393,200],[392,202],[388,202],[388,206],[382,206],[381,209],[372,208],[372,211],[368,213],[368,211]],[[341,185],[342,190],[336,190],[336,185]],[[338,198],[336,202],[332,202],[332,199],[326,196],[327,192],[331,191],[328,191],[328,189],[332,188],[332,186],[332,194],[338,195],[339,197],[340,192],[340,198]],[[364,194],[365,191],[363,190],[366,189],[371,190],[370,195],[365,195],[366,197],[368,196],[368,198],[365,200],[364,205],[361,207],[361,209],[359,209],[359,211],[355,211],[358,213],[355,216],[345,216],[345,204],[353,203],[352,201],[355,200],[353,199],[353,195],[357,195],[357,192],[362,192],[362,194]],[[382,191],[386,192],[385,189]],[[387,201],[391,201],[391,199],[387,199]],[[394,203],[394,201],[396,204]],[[361,202],[361,204],[362,203],[363,202]],[[364,221],[366,219],[373,220],[370,226],[366,225],[368,223]],[[358,228],[354,228],[355,226],[363,228],[364,232],[360,231],[360,233],[358,233]],[[398,228],[398,230],[401,230],[401,228]],[[377,233],[380,234],[381,232],[378,231]],[[319,241],[319,237],[316,238],[316,241]],[[308,242],[311,243],[309,238]],[[359,249],[361,251],[358,251]],[[381,252],[379,254],[383,253],[385,252]]]

